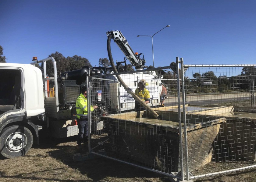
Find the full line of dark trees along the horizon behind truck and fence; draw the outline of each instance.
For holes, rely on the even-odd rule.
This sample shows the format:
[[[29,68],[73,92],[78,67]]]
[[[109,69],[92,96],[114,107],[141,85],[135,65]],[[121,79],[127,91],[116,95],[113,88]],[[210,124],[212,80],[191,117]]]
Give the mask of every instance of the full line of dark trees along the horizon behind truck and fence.
[[[82,56],[74,55],[72,57],[65,57],[59,52],[49,55],[54,57],[57,66],[57,76],[65,71],[72,71],[81,69],[83,66],[92,68],[91,62]],[[0,62],[6,62],[6,57],[3,56],[3,48],[0,45]],[[111,64],[107,58],[100,58],[98,62],[99,67],[111,68]],[[175,65],[174,62],[171,65]],[[43,65],[35,65],[42,70]],[[47,75],[53,76],[52,62],[48,61],[46,64]],[[121,64],[120,68],[124,68]],[[148,69],[153,68],[149,66]],[[105,73],[109,71],[103,70]],[[122,69],[121,69],[122,71]],[[134,71],[132,65],[127,64],[127,72]],[[168,87],[173,92],[176,92],[177,75],[172,70],[158,70],[156,71],[158,78],[170,79],[170,81],[163,81],[164,86]],[[256,68],[254,66],[243,67],[241,74],[236,76],[219,76],[217,77],[213,71],[204,72],[202,74],[196,72],[193,74],[193,79],[186,77],[185,86],[187,93],[207,93],[207,92],[233,92],[233,91],[250,91],[255,87],[256,83]],[[181,78],[182,75],[180,75]]]

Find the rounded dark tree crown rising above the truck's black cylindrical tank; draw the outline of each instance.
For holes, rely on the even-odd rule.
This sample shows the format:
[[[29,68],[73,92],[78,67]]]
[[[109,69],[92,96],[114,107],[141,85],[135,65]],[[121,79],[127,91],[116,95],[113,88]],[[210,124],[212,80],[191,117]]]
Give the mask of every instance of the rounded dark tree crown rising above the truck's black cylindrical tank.
[[[73,56],[73,57],[67,57],[67,67],[66,70],[67,71],[72,71],[72,70],[76,70],[76,69],[81,69],[83,66],[89,66],[90,68],[92,68],[91,63],[88,61],[88,59],[83,58],[81,56]]]

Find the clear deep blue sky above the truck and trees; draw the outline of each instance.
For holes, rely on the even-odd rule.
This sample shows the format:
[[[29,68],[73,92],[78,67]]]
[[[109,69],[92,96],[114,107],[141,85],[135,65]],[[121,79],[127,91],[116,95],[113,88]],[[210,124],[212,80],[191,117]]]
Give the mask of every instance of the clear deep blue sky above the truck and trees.
[[[98,66],[107,35],[119,30],[146,65],[256,63],[256,1],[0,1],[0,45],[7,62],[30,63],[58,51]],[[111,42],[113,59],[123,53]]]

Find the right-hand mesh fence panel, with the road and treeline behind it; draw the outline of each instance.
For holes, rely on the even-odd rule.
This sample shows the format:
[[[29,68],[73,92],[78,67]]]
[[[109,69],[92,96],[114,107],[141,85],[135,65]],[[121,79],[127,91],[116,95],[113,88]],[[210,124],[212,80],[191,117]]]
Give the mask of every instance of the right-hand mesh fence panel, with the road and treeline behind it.
[[[184,175],[196,179],[256,167],[256,65],[180,62]]]

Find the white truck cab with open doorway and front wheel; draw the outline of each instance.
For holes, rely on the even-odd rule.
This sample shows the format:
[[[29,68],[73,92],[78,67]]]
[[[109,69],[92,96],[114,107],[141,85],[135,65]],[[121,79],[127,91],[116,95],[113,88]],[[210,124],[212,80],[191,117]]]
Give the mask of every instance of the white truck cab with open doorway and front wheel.
[[[0,63],[0,147],[4,157],[24,155],[38,137],[31,119],[44,114],[42,73],[33,65]]]

